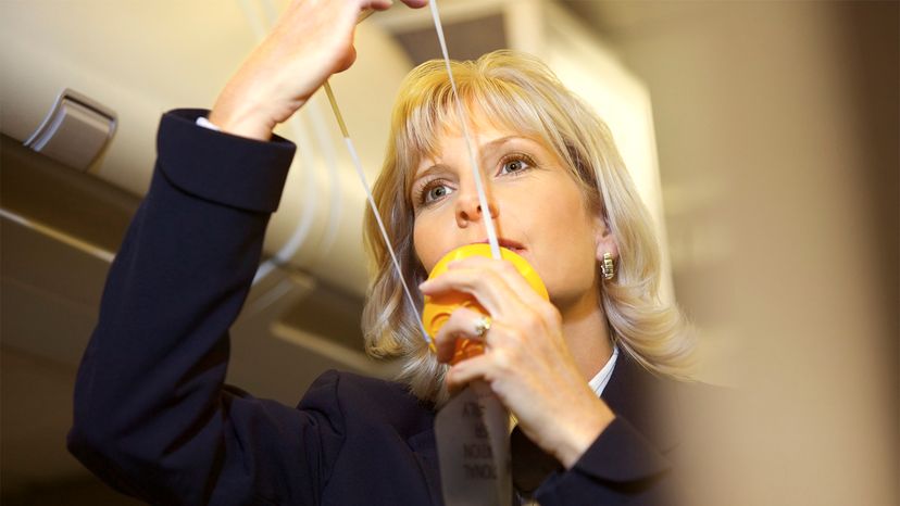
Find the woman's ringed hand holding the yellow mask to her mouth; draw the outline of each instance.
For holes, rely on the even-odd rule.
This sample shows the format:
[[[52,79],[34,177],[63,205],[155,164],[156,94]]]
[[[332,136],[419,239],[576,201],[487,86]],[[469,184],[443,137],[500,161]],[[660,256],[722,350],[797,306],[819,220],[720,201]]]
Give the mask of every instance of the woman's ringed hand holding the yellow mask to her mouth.
[[[512,410],[525,434],[566,468],[587,451],[614,415],[590,389],[562,333],[562,318],[512,264],[482,256],[452,263],[446,274],[421,286],[437,295],[474,295],[491,315],[479,338],[482,315],[453,312],[435,337],[438,359],[449,362],[457,339],[483,339],[486,352],[450,368],[448,388],[486,381]]]

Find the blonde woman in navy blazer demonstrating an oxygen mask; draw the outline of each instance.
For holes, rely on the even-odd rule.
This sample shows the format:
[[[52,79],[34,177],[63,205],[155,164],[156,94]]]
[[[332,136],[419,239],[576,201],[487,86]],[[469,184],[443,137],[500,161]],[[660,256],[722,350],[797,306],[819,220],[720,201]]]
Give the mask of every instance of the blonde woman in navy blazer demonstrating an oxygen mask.
[[[399,382],[327,372],[297,408],[223,384],[227,329],[293,154],[272,128],[352,64],[353,25],[366,7],[389,2],[293,2],[209,114],[207,126],[222,132],[196,124],[203,111],[163,117],[151,189],[78,374],[71,451],[151,503],[440,504],[435,410],[448,390],[486,380],[517,418],[524,447],[559,467],[523,493],[542,505],[658,504],[674,440],[655,423],[668,416],[661,406],[637,401],[674,399],[676,383],[645,368],[680,371],[680,319],[655,299],[648,218],[605,127],[526,56],[455,65],[466,118],[438,64],[414,71],[375,197],[409,281],[423,281],[448,251],[484,242],[490,212],[501,245],[537,269],[550,301],[505,262],[458,262],[422,293],[473,294],[490,329],[459,309],[435,337],[435,356],[367,216],[377,274],[366,344],[404,362]],[[489,210],[475,195],[463,121]],[[486,353],[448,368],[460,338],[484,340]]]

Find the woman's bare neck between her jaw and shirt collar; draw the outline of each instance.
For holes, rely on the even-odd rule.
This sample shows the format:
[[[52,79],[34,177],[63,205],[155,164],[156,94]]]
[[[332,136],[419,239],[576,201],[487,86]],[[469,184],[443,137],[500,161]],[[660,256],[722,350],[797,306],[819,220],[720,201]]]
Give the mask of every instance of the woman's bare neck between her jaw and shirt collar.
[[[560,308],[568,351],[586,381],[593,378],[612,356],[607,317],[595,291]]]

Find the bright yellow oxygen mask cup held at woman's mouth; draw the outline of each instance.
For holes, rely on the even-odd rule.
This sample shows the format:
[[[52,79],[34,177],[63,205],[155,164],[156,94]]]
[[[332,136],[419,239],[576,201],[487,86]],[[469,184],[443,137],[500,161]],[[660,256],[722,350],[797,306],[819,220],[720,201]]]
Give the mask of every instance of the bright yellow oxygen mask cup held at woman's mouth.
[[[428,275],[428,279],[434,279],[446,273],[447,265],[450,264],[450,262],[467,258],[470,256],[486,256],[490,258],[490,245],[466,244],[464,246],[457,248],[438,261],[435,268],[433,268],[432,273]],[[542,296],[545,300],[550,300],[550,295],[547,293],[547,287],[543,286],[543,281],[540,280],[537,271],[525,258],[505,248],[500,249],[500,256],[515,266],[516,270],[518,270],[522,277],[528,281],[528,284],[537,294]],[[447,322],[450,318],[450,314],[452,314],[457,307],[466,307],[485,316],[490,316],[488,315],[488,312],[482,307],[480,304],[478,304],[478,301],[476,301],[475,298],[468,293],[448,292],[437,296],[426,295],[425,307],[422,309],[422,322],[425,325],[425,330],[428,332],[428,336],[434,339],[434,337],[437,336],[438,330],[443,327],[443,324]],[[457,349],[453,352],[453,358],[450,360],[450,364],[454,365],[460,360],[480,355],[484,351],[485,346],[482,341],[467,338],[458,339]]]

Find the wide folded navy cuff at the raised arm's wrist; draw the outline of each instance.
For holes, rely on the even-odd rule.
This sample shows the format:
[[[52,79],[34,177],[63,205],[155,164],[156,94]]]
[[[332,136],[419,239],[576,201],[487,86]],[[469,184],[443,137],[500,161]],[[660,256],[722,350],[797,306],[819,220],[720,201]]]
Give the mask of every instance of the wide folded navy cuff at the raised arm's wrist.
[[[160,169],[180,190],[252,212],[278,208],[296,147],[273,135],[268,142],[198,127],[208,111],[163,115],[157,138]]]

